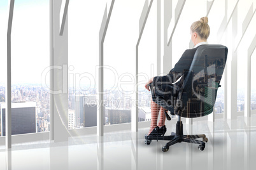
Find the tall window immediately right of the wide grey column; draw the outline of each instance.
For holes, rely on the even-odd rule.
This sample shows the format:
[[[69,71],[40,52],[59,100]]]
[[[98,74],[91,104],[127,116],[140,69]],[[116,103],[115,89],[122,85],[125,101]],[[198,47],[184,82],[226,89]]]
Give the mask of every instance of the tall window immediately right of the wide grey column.
[[[69,2],[69,129],[97,126],[96,69],[105,6],[106,1]]]

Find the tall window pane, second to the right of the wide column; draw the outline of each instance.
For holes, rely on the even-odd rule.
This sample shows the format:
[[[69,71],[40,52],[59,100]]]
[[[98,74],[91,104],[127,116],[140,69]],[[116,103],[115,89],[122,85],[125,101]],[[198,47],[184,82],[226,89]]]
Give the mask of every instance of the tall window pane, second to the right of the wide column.
[[[135,89],[136,42],[139,37],[139,1],[115,1],[104,41],[105,125],[131,122]],[[143,67],[141,64],[140,66]]]

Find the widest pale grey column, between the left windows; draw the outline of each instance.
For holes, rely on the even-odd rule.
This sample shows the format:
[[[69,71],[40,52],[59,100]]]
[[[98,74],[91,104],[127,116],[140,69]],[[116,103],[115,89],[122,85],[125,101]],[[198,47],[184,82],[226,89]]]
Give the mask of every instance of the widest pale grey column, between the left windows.
[[[50,140],[68,141],[68,6],[50,1]],[[63,17],[64,16],[64,17]],[[60,22],[60,18],[66,18]],[[62,24],[63,23],[63,24]],[[60,25],[62,34],[60,34]]]

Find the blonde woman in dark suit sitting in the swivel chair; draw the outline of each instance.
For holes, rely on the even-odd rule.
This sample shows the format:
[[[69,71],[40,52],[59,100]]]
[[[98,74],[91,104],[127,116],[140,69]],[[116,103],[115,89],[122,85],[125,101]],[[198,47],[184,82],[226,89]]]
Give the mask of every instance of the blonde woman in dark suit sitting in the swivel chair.
[[[207,39],[210,35],[210,27],[208,25],[208,17],[203,17],[199,21],[196,21],[192,23],[190,27],[190,35],[191,40],[194,44],[193,49],[187,49],[183,55],[181,56],[178,63],[176,63],[175,67],[167,74],[166,76],[157,76],[152,77],[148,82],[145,84],[145,88],[149,89],[149,84],[162,84],[162,82],[176,82],[183,74],[183,70],[189,70],[189,67],[192,63],[194,54],[196,53],[196,49],[198,46],[203,44],[208,44]],[[162,89],[166,91],[166,89]],[[156,94],[161,95],[160,93]],[[152,96],[153,97],[153,96]],[[160,110],[160,118],[159,123],[157,124],[157,119],[159,115]],[[162,135],[164,136],[164,133],[166,133],[166,126],[165,120],[166,115],[164,114],[164,108],[160,107],[157,103],[155,103],[153,100],[151,100],[151,125],[150,130],[148,132],[148,135],[145,135],[145,138],[148,139],[150,136],[153,135]],[[159,128],[160,127],[160,128]]]

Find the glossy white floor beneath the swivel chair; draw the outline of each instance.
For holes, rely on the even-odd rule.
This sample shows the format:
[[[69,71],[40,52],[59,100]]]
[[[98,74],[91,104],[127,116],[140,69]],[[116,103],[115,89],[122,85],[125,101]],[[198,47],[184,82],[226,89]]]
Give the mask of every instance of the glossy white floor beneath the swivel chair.
[[[173,121],[173,120],[172,120]],[[167,134],[175,124],[167,127]],[[203,151],[197,144],[176,143],[162,152],[167,141],[145,145],[144,134],[122,131],[104,138],[82,136],[67,143],[30,143],[0,148],[0,169],[256,169],[256,115],[234,121],[217,119],[184,124],[184,134],[206,134]]]

